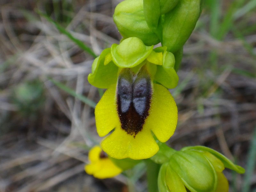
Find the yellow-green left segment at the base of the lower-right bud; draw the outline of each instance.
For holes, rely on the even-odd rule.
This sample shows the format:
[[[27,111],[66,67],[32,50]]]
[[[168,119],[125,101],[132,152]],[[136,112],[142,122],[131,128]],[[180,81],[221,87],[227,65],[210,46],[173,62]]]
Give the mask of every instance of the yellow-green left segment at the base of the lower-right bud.
[[[180,176],[175,173],[170,166],[166,168],[166,183],[170,192],[186,192],[186,188],[180,179]]]

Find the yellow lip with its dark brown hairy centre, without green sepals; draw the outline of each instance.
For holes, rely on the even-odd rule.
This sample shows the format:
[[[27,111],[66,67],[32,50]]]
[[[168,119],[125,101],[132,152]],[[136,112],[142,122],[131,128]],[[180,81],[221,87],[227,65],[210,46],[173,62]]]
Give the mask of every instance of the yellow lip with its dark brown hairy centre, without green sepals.
[[[146,67],[137,74],[124,68],[95,108],[98,134],[108,137],[102,149],[116,159],[146,159],[156,154],[152,135],[166,142],[174,133],[178,111],[170,92],[152,82]],[[152,132],[151,132],[152,131]]]

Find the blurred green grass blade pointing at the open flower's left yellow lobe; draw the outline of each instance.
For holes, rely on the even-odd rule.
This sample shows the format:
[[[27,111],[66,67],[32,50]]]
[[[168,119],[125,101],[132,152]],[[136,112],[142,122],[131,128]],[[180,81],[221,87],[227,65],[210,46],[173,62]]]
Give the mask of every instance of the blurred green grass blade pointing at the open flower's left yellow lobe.
[[[64,84],[62,84],[58,81],[55,81],[54,79],[50,79],[50,81],[53,84],[55,84],[56,86],[58,86],[60,89],[62,89],[63,91],[65,91],[65,92],[69,93],[70,95],[76,97],[77,99],[83,101],[84,103],[86,103],[90,107],[95,108],[96,103],[94,101],[88,99],[87,97],[85,97],[81,94],[76,93],[74,90],[70,89],[69,87],[67,87],[66,85],[64,85]]]

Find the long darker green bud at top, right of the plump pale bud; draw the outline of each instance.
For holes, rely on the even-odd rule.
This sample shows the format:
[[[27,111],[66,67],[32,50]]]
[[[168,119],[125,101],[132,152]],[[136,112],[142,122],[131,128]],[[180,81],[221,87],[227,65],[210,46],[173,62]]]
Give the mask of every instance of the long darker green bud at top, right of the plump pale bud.
[[[180,0],[172,11],[165,14],[163,46],[167,46],[167,51],[177,52],[188,40],[201,14],[202,2]]]

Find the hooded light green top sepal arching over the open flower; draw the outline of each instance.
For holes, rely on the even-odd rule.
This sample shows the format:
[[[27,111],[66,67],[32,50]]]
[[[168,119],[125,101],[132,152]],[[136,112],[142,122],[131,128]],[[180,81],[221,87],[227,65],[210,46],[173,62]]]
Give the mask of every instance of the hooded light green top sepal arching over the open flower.
[[[152,46],[146,46],[139,38],[130,37],[124,39],[119,45],[111,46],[111,56],[116,66],[120,68],[133,68],[144,61],[150,52]]]

